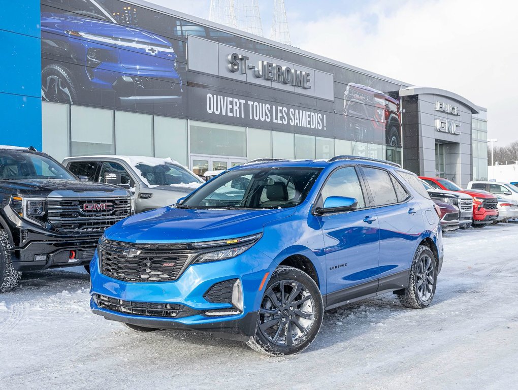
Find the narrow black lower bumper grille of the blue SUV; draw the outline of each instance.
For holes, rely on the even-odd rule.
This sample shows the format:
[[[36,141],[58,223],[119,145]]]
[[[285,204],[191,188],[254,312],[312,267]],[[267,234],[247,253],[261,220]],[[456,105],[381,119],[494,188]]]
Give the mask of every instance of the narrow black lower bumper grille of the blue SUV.
[[[135,302],[94,294],[95,304],[102,309],[118,311],[124,314],[146,315],[150,317],[186,317],[196,314],[196,310],[180,304],[162,304],[154,302]]]

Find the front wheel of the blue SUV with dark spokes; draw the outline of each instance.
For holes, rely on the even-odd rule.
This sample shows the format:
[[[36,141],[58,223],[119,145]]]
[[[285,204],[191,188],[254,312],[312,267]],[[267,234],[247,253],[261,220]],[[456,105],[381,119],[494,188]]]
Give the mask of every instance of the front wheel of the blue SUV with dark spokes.
[[[247,344],[269,355],[304,351],[319,333],[323,312],[314,280],[297,268],[281,266],[264,290],[255,335]]]

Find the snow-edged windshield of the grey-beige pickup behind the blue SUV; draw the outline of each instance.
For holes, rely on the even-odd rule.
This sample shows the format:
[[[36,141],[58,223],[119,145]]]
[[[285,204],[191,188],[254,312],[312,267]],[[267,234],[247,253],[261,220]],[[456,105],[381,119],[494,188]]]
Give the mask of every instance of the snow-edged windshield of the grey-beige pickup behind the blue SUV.
[[[203,181],[185,168],[164,163],[161,165],[150,165],[138,163],[135,165],[137,174],[148,185],[180,185],[200,184]]]

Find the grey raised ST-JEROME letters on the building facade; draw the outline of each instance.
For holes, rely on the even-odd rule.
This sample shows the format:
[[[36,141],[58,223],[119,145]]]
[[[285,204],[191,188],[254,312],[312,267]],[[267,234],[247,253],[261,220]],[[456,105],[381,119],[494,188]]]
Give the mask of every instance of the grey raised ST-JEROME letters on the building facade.
[[[293,85],[305,90],[311,89],[311,73],[308,71],[292,69],[269,61],[258,61],[257,65],[254,65],[249,64],[248,60],[249,57],[246,55],[228,54],[228,70],[233,73],[240,72],[242,75],[250,71],[258,79]]]

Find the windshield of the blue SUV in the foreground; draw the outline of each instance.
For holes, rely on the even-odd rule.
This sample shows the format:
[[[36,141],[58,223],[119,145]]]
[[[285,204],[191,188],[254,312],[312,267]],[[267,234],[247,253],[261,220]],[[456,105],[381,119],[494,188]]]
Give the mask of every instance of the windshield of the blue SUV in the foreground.
[[[274,209],[299,205],[320,168],[251,168],[227,171],[193,192],[180,208]]]

